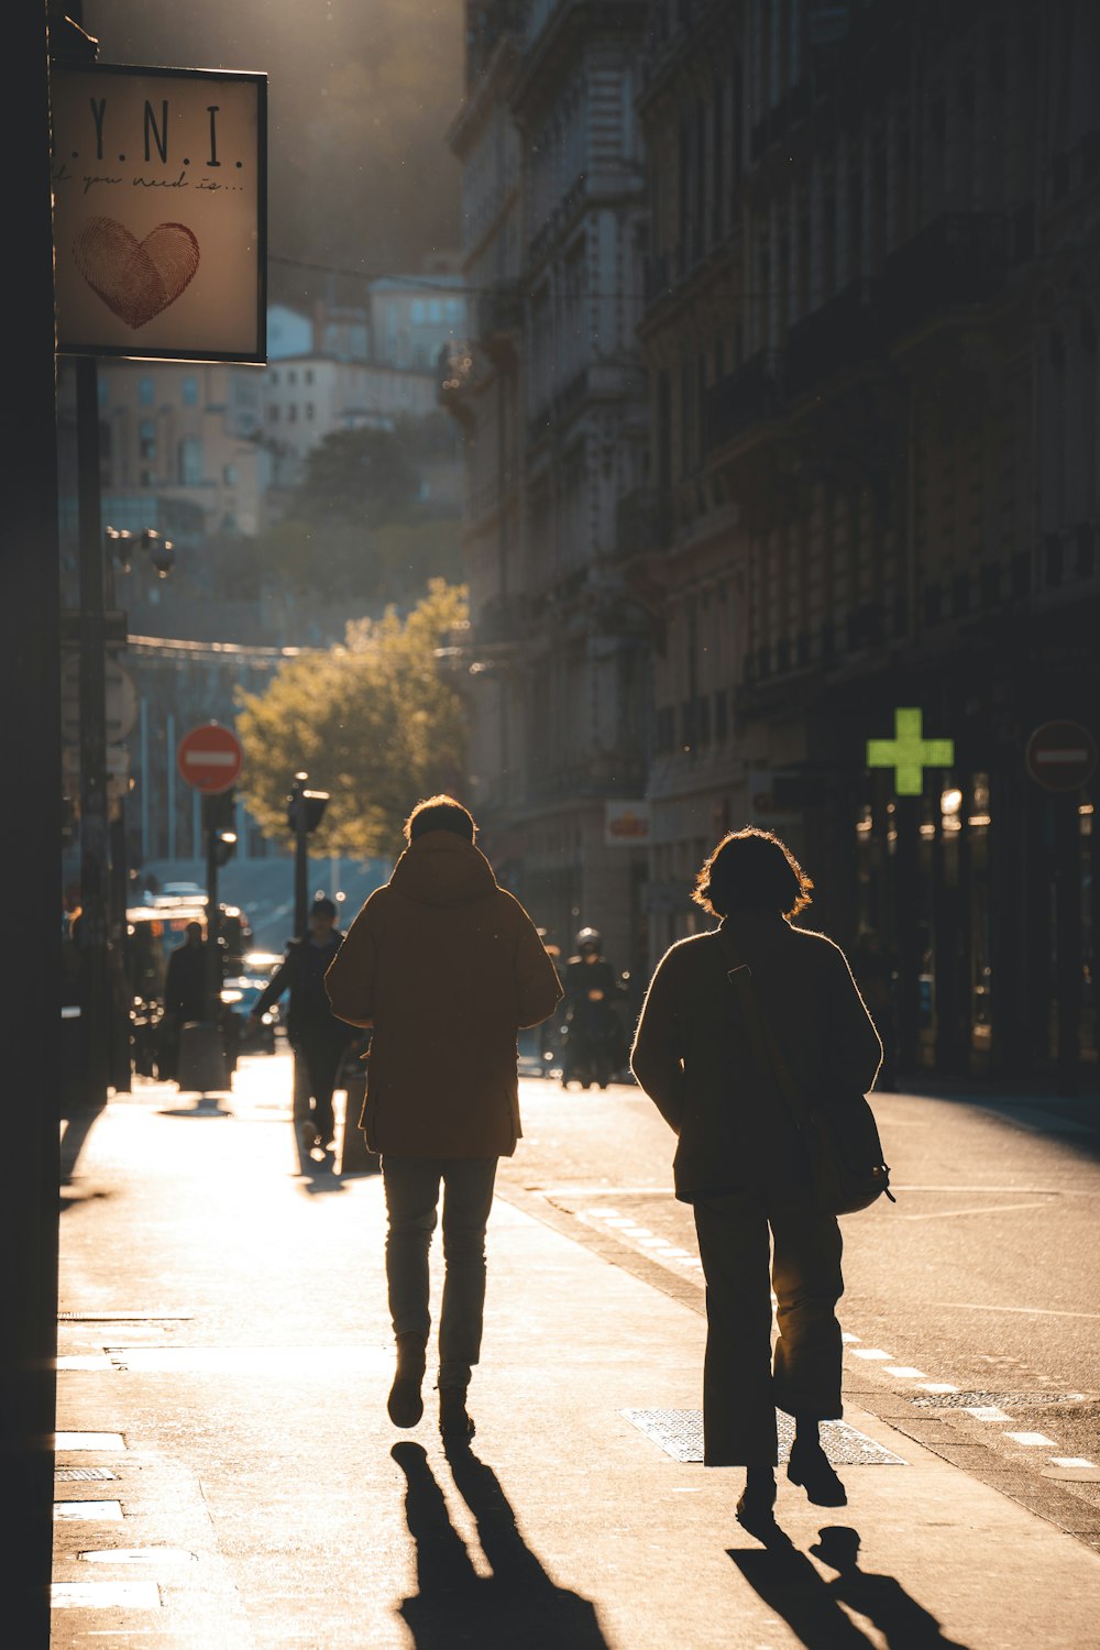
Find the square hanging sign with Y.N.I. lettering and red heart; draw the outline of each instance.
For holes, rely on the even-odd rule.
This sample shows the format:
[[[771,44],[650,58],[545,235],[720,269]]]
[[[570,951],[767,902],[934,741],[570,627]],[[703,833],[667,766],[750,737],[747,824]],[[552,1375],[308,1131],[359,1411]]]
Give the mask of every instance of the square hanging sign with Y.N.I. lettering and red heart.
[[[267,76],[54,66],[63,355],[267,360]]]

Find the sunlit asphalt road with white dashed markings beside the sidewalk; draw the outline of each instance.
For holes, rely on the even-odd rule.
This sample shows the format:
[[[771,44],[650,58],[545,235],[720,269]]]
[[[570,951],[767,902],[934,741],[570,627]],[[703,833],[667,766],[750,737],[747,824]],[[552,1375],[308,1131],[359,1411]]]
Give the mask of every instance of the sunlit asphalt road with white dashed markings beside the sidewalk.
[[[646,1097],[531,1079],[521,1106],[501,1191],[703,1310],[675,1140]],[[1100,1102],[882,1094],[874,1107],[897,1203],[843,1219],[846,1389],[1065,1528],[1095,1523]]]

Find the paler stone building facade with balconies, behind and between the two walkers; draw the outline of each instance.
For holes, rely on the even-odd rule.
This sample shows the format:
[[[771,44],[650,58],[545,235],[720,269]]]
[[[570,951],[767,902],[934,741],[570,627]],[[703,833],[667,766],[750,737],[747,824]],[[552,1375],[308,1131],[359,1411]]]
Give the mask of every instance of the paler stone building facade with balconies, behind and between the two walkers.
[[[472,802],[498,874],[569,949],[645,957],[648,617],[625,589],[645,477],[645,177],[633,112],[645,5],[472,3],[465,165]]]

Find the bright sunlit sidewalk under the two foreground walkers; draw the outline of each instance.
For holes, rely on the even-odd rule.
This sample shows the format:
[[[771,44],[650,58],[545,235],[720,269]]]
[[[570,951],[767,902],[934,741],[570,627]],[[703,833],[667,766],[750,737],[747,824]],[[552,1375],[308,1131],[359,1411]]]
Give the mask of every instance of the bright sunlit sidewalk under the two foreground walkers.
[[[760,1546],[742,1475],[658,1436],[691,1431],[699,1313],[529,1204],[490,1223],[472,1450],[430,1361],[396,1432],[379,1178],[300,1175],[284,1099],[282,1061],[221,1107],[147,1086],[64,1188],[53,1650],[1098,1642],[1095,1553],[851,1406],[849,1505],[780,1477]]]

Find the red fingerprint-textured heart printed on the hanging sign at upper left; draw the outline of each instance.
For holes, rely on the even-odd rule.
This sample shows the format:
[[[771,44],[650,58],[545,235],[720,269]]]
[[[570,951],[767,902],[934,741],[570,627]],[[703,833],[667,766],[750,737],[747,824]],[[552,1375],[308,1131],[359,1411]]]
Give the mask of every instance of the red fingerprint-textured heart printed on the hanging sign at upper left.
[[[175,304],[198,269],[198,241],[183,223],[158,223],[139,241],[115,218],[89,218],[73,252],[92,292],[135,332]]]

